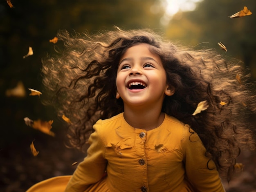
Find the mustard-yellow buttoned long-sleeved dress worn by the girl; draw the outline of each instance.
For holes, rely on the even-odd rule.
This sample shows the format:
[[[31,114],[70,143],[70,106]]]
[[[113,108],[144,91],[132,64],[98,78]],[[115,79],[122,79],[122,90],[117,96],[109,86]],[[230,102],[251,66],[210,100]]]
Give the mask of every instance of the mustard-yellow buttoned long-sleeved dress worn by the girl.
[[[165,114],[159,127],[146,131],[120,113],[93,128],[87,157],[72,176],[47,179],[27,192],[225,192],[198,135],[174,117]]]

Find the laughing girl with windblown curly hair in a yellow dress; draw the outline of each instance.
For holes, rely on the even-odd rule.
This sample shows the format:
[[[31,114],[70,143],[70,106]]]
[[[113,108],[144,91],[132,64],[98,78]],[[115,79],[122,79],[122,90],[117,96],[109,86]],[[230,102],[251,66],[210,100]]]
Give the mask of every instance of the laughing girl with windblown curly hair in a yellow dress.
[[[45,93],[58,90],[50,104],[70,118],[70,144],[90,146],[72,177],[28,192],[225,191],[219,173],[229,180],[240,149],[255,147],[255,96],[237,61],[150,30],[58,39],[63,50],[43,60]]]

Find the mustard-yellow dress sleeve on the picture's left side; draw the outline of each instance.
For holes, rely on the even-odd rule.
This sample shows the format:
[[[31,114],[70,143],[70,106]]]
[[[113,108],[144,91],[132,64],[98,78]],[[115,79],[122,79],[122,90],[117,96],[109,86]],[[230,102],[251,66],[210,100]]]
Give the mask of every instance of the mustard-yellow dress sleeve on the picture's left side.
[[[90,147],[87,150],[87,157],[79,163],[65,192],[81,192],[86,190],[92,183],[97,183],[106,170],[107,161],[104,159],[105,147],[100,137],[101,120],[93,126],[94,132],[90,135]]]

